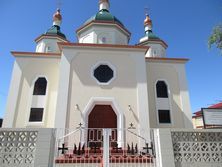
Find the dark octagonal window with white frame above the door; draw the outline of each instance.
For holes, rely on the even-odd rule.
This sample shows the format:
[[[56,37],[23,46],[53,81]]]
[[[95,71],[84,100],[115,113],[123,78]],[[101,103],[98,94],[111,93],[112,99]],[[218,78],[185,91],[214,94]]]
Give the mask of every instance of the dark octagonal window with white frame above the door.
[[[115,71],[110,64],[100,63],[93,68],[93,77],[100,85],[108,85],[115,77]]]

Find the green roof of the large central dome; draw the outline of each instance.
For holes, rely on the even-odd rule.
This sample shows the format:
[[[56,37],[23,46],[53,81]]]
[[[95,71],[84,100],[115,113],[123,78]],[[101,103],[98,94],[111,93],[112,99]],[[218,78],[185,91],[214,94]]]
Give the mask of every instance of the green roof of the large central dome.
[[[94,15],[90,19],[88,19],[85,22],[85,24],[90,23],[91,21],[112,21],[112,22],[116,22],[116,23],[124,26],[123,23],[121,23],[121,21],[119,21],[115,16],[113,16],[106,9],[100,10],[96,15]]]

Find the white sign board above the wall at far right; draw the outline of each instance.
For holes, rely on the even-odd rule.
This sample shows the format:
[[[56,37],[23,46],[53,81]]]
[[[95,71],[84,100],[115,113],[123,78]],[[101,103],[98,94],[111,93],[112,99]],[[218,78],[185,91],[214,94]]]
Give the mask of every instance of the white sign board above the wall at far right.
[[[202,112],[205,125],[222,126],[222,109],[202,108]]]

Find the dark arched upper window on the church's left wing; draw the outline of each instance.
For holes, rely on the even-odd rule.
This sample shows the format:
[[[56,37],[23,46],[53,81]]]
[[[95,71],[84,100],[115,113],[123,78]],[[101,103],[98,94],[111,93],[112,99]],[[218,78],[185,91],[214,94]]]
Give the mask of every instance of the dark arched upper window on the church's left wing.
[[[33,95],[46,95],[47,81],[45,78],[38,78],[35,82]]]

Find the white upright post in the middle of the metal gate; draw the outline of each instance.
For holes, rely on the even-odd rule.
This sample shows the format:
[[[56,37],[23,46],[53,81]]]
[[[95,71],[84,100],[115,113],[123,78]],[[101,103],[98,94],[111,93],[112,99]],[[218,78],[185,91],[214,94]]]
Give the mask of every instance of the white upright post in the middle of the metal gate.
[[[103,129],[103,167],[109,167],[109,140],[111,129]]]

